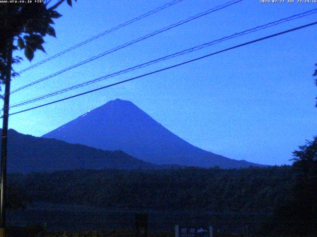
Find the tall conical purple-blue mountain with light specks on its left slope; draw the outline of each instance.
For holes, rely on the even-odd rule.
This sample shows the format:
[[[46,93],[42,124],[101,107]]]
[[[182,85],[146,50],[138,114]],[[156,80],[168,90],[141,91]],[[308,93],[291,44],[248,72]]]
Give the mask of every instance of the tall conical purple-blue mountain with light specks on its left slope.
[[[79,143],[103,150],[122,150],[155,164],[222,168],[260,166],[197,148],[176,136],[132,102],[116,99],[43,137]]]

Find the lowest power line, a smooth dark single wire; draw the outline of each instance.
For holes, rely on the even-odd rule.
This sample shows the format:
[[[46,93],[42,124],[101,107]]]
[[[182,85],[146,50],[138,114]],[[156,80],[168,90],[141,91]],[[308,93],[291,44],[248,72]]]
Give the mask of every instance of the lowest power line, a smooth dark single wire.
[[[18,112],[9,114],[9,115],[15,115],[15,114],[19,114],[19,113],[22,113],[22,112],[34,110],[34,109],[37,109],[37,108],[40,108],[40,107],[44,107],[44,106],[51,105],[51,104],[54,104],[54,103],[57,103],[57,102],[68,100],[68,99],[71,99],[71,98],[74,98],[74,97],[78,97],[78,96],[85,95],[85,94],[88,94],[88,93],[92,93],[92,92],[95,92],[95,91],[98,91],[98,90],[102,90],[102,89],[105,89],[105,88],[108,88],[108,87],[111,87],[111,86],[114,86],[114,85],[118,85],[118,84],[130,81],[130,80],[143,78],[145,76],[149,76],[149,75],[156,74],[156,73],[159,73],[159,72],[162,72],[162,71],[165,71],[165,70],[168,70],[168,69],[172,69],[172,68],[175,68],[175,67],[178,67],[178,66],[181,66],[181,65],[185,65],[185,64],[188,64],[188,63],[191,63],[191,62],[195,62],[195,61],[198,61],[198,60],[203,59],[203,58],[210,57],[210,56],[215,55],[215,54],[219,54],[219,53],[222,53],[222,52],[225,52],[225,51],[229,51],[229,50],[234,49],[234,48],[239,48],[239,47],[251,44],[251,43],[255,43],[255,42],[258,42],[258,41],[262,41],[262,40],[266,40],[266,39],[269,39],[269,38],[273,38],[273,37],[276,37],[276,36],[279,36],[279,35],[283,35],[283,34],[286,34],[286,33],[289,33],[289,32],[300,30],[300,29],[303,29],[303,28],[306,28],[306,27],[309,27],[309,26],[313,26],[313,25],[316,25],[316,24],[317,24],[317,21],[313,22],[313,23],[310,23],[310,24],[307,24],[307,25],[300,26],[300,27],[292,28],[292,29],[287,30],[287,31],[282,31],[282,32],[279,32],[279,33],[276,33],[276,34],[273,34],[273,35],[269,35],[269,36],[266,36],[266,37],[263,37],[263,38],[260,38],[260,39],[257,39],[257,40],[251,40],[251,41],[248,41],[246,43],[238,44],[236,46],[229,47],[229,48],[226,48],[226,49],[223,49],[223,50],[211,53],[211,54],[207,54],[205,56],[198,57],[198,58],[195,58],[195,59],[192,59],[192,60],[189,60],[189,61],[185,61],[183,63],[175,64],[175,65],[172,65],[172,66],[169,66],[169,67],[166,67],[166,68],[162,68],[162,69],[159,69],[157,71],[153,71],[151,73],[143,74],[143,75],[140,75],[140,76],[137,76],[137,77],[134,77],[134,78],[130,78],[130,79],[126,79],[126,80],[122,80],[122,81],[119,81],[119,82],[116,82],[116,83],[113,83],[113,84],[109,84],[109,85],[106,85],[106,86],[103,86],[103,87],[99,87],[97,89],[93,89],[93,90],[89,90],[89,91],[86,91],[86,92],[83,92],[83,93],[72,95],[72,96],[69,96],[69,97],[66,97],[66,98],[63,98],[63,99],[60,99],[60,100],[55,100],[53,102],[49,102],[49,103],[46,103],[46,104],[43,104],[43,105],[35,106],[35,107],[29,108],[29,109],[26,109],[26,110],[18,111]]]

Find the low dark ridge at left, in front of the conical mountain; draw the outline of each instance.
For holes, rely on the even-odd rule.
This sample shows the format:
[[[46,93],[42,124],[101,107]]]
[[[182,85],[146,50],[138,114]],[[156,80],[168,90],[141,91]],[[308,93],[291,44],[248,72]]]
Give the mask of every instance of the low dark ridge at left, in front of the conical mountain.
[[[33,137],[18,133],[13,129],[8,131],[7,155],[9,173],[49,172],[68,169],[170,168],[170,166],[144,162],[121,151],[104,151],[56,139]]]

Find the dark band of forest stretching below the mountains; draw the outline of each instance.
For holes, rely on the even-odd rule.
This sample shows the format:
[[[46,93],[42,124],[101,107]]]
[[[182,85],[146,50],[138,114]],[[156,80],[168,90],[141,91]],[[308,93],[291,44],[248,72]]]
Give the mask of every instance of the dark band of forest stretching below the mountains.
[[[33,201],[104,207],[271,213],[291,195],[291,166],[244,169],[71,170],[12,174]]]

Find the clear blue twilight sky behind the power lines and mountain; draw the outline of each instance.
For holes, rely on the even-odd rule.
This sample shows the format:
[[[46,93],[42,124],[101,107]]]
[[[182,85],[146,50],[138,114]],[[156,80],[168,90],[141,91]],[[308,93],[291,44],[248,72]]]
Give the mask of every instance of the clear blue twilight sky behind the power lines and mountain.
[[[78,0],[55,20],[57,38],[46,37],[47,54],[37,52],[24,69],[76,43],[157,8],[168,0]],[[48,76],[125,42],[196,15],[225,0],[183,0],[150,17],[79,47],[12,80],[11,90]],[[30,86],[11,104],[135,66],[198,44],[317,8],[317,3],[260,3],[244,0]],[[187,55],[12,109],[128,79],[172,64],[316,21],[317,14],[207,47]],[[292,151],[317,135],[317,26],[224,52],[54,105],[13,115],[9,127],[41,136],[116,98],[132,101],[152,118],[195,146],[234,159],[291,164]],[[17,55],[19,52],[17,52]]]

